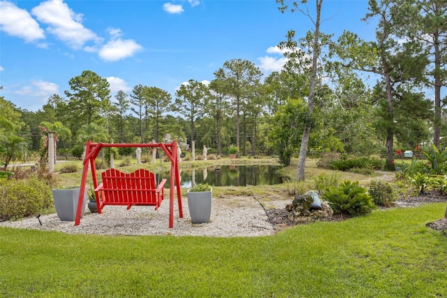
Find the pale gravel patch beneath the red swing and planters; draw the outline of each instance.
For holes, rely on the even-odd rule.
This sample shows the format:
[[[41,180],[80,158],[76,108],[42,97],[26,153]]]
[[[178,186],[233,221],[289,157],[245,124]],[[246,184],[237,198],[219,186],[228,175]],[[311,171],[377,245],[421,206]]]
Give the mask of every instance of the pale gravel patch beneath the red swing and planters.
[[[99,235],[173,235],[173,236],[268,236],[276,233],[263,206],[254,197],[213,198],[210,222],[193,224],[188,201],[182,200],[183,218],[179,218],[177,200],[174,204],[174,227],[169,228],[169,199],[157,211],[152,206],[105,206],[103,213],[90,213],[88,208],[75,227],[63,222],[57,214],[41,215],[18,221],[0,222],[0,227],[59,231],[67,234]],[[286,205],[284,201],[273,206]],[[42,225],[39,223],[39,219]]]

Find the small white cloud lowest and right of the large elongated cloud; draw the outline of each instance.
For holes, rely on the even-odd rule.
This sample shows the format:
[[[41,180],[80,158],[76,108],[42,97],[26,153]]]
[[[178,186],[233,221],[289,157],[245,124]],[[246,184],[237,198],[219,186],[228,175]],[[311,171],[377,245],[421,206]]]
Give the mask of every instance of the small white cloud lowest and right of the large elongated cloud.
[[[122,40],[118,38],[117,40],[112,40],[103,45],[101,50],[99,50],[99,57],[105,61],[118,61],[127,57],[131,57],[142,50],[142,46],[131,39]]]

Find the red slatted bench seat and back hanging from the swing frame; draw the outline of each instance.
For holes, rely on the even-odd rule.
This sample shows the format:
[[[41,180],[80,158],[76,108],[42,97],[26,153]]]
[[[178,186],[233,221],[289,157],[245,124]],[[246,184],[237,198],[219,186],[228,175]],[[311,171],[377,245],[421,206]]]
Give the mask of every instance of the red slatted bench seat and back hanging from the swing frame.
[[[108,169],[101,174],[103,178],[103,204],[105,205],[154,205],[163,198],[156,193],[155,175],[145,169],[133,173],[123,173]]]

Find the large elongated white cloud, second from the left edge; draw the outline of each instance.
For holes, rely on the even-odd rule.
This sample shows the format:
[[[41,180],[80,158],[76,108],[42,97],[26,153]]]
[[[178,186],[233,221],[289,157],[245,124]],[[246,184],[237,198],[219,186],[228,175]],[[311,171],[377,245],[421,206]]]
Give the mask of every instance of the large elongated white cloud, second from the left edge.
[[[48,24],[47,31],[71,48],[82,48],[88,41],[101,42],[101,38],[82,24],[82,14],[74,13],[62,0],[48,0],[31,10],[39,22]]]

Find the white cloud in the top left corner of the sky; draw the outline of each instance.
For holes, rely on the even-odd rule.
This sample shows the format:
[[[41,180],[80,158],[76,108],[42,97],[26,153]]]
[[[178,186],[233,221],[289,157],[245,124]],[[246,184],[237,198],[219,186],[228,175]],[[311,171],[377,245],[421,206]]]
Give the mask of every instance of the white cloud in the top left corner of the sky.
[[[18,8],[8,1],[0,1],[0,30],[10,36],[23,38],[27,42],[45,38],[43,29],[38,22],[22,8]]]

